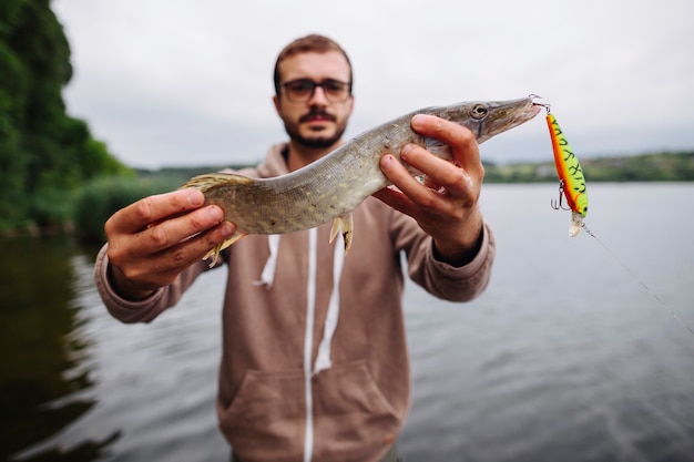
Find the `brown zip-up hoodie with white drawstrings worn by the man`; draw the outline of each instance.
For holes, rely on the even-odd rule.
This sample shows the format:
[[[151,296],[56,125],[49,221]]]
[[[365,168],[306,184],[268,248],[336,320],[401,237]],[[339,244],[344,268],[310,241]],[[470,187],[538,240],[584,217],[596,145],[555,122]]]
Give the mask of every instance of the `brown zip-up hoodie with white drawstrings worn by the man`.
[[[287,173],[283,148],[273,146],[263,164],[242,173]],[[437,297],[466,301],[487,286],[494,255],[487,226],[480,253],[461,268],[437,261],[416,222],[372,197],[354,212],[354,226],[344,258],[341,243],[328,244],[330,224],[247,236],[223,253],[228,280],[217,411],[244,462],[378,461],[388,451],[410,404],[401,250],[411,279]],[[108,280],[105,248],[96,284],[109,311],[124,322],[151,321],[207,269],[201,261],[132,302]]]

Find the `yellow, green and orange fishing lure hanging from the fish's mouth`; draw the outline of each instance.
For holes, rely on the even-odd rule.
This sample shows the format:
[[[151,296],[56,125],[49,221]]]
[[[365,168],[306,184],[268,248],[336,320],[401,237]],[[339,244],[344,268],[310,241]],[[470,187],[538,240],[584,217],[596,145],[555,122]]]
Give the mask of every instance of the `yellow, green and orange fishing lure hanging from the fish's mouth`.
[[[547,112],[547,126],[552,140],[552,152],[554,154],[554,165],[559,176],[559,198],[561,204],[562,195],[567,198],[567,204],[571,211],[571,222],[569,224],[569,236],[574,237],[583,227],[583,219],[588,215],[588,187],[585,176],[579,158],[569,145],[564,132],[559,126],[554,114]],[[554,207],[559,208],[559,207]]]

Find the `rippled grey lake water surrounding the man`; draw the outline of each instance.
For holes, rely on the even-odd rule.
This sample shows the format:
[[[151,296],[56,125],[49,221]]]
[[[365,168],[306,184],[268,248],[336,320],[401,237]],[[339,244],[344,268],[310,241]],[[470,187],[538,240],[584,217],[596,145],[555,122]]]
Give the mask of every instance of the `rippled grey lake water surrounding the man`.
[[[557,194],[486,186],[498,256],[478,300],[408,285],[406,462],[694,461],[694,184],[591,185],[600,240],[568,237]],[[94,249],[0,249],[0,458],[228,460],[214,411],[224,270],[124,326],[93,287]]]

